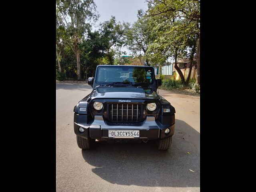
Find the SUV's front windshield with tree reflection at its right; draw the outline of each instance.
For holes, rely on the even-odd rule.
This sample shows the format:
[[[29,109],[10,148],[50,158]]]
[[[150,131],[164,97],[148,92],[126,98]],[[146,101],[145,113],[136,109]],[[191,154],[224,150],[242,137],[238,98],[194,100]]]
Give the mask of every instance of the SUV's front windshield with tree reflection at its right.
[[[99,67],[97,83],[146,83],[152,84],[154,73],[149,67]]]

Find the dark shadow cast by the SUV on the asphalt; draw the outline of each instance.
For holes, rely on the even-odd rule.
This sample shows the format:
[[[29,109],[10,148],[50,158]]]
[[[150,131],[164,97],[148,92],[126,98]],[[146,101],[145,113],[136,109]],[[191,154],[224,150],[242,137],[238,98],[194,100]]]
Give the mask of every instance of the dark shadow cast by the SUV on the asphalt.
[[[82,150],[82,156],[95,167],[94,174],[112,184],[200,187],[200,151],[196,146],[200,147],[200,133],[176,119],[176,133],[168,151],[158,151],[154,141],[97,142],[94,148]]]

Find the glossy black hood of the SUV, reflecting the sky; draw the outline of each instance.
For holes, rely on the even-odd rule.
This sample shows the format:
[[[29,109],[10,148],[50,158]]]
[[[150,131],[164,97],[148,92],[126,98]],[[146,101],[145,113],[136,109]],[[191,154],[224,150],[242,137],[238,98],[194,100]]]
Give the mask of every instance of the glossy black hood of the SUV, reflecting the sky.
[[[91,93],[92,99],[158,99],[150,89],[134,87],[97,87]]]

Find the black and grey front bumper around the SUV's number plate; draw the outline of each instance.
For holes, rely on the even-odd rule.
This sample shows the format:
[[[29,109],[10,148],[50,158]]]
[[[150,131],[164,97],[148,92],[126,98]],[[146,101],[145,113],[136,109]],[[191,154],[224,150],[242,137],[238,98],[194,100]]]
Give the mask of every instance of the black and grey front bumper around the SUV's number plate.
[[[140,130],[140,139],[158,139],[172,136],[175,129],[175,124],[168,127],[161,126],[156,122],[154,116],[147,116],[141,126],[109,126],[104,122],[103,116],[100,115],[94,116],[94,121],[90,125],[80,122],[79,117],[75,116],[74,119],[75,134],[83,138],[92,139],[108,138],[108,130]],[[79,131],[80,127],[84,128],[85,131],[83,133]],[[168,134],[164,133],[166,128],[170,129]]]

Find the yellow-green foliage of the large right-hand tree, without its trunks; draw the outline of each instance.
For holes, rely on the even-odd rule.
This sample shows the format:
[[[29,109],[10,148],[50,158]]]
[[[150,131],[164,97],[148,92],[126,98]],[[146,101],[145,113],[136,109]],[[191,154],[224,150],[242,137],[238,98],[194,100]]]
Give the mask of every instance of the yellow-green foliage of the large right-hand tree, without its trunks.
[[[168,59],[193,58],[200,35],[200,2],[193,0],[146,0],[148,26],[154,41],[148,46],[150,60],[160,66]],[[182,77],[182,80],[183,77]]]

